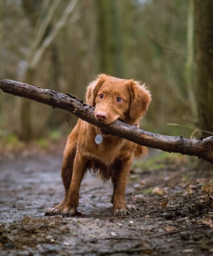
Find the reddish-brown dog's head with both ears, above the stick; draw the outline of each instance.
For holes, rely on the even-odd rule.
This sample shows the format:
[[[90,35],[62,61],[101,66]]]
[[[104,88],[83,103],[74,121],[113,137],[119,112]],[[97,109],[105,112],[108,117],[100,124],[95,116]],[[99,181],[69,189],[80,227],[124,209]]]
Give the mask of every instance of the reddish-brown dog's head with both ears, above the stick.
[[[150,101],[144,84],[105,74],[92,81],[86,93],[86,103],[95,107],[95,118],[104,124],[119,118],[134,123],[147,111]]]

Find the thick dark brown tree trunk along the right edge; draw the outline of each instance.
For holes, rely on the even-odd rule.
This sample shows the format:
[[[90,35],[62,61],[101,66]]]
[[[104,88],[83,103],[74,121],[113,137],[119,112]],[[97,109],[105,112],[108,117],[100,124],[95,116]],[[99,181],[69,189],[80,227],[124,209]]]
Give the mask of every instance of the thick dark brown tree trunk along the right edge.
[[[195,0],[199,127],[213,131],[213,0]],[[202,137],[208,134],[202,132]],[[212,168],[198,164],[199,169]]]

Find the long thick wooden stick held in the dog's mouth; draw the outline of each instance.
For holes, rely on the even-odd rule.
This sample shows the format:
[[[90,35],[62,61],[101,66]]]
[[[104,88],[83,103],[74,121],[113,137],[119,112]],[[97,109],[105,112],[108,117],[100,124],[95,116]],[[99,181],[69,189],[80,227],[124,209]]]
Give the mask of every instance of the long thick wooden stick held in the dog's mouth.
[[[53,108],[69,111],[82,120],[108,131],[112,135],[130,140],[139,145],[158,148],[168,152],[198,156],[213,163],[213,136],[203,140],[188,140],[182,136],[171,137],[144,131],[121,120],[117,120],[111,125],[104,125],[96,121],[92,106],[86,105],[82,100],[76,99],[71,94],[58,93],[53,90],[12,80],[0,81],[0,89],[5,93],[25,97],[50,105]]]

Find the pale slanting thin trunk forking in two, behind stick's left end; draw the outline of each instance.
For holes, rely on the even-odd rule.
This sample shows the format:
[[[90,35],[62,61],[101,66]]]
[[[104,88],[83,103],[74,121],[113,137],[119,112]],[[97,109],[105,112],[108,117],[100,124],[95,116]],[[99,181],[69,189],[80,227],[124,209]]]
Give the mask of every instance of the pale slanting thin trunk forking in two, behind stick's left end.
[[[56,35],[60,31],[60,29],[65,25],[66,20],[69,15],[75,9],[78,0],[70,0],[66,8],[64,9],[62,15],[59,17],[58,21],[55,23],[55,26],[49,32],[46,37],[44,34],[48,25],[52,21],[52,17],[55,13],[55,10],[60,1],[55,0],[52,2],[49,12],[47,13],[46,18],[41,22],[39,28],[37,29],[37,33],[35,35],[35,41],[32,42],[32,47],[29,52],[29,57],[27,61],[26,70],[23,72],[23,77],[21,81],[26,81],[33,83],[36,67],[42,58],[44,52],[54,41]],[[32,138],[32,124],[31,124],[31,104],[29,100],[23,99],[20,102],[20,138],[23,140],[29,140]]]

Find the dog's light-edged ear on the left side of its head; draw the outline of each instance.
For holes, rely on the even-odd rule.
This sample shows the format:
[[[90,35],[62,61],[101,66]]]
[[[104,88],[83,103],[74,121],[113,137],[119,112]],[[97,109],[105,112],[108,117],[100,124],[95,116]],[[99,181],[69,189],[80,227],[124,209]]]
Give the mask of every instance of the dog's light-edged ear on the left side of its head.
[[[107,79],[107,75],[100,74],[97,76],[97,78],[92,81],[86,90],[86,104],[92,105],[95,107],[95,98],[98,92],[98,89],[100,88],[101,84],[104,83],[104,81]]]

